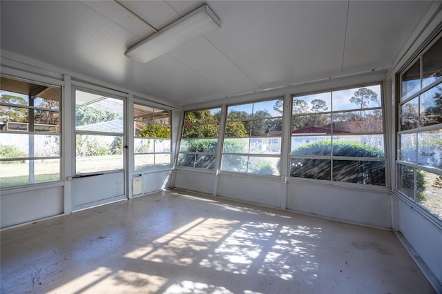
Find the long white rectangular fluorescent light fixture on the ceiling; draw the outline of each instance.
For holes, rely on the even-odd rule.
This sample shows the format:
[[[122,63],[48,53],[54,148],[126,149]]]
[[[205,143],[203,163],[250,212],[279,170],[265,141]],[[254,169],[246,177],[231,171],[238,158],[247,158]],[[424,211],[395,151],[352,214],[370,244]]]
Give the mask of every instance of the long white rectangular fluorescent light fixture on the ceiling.
[[[220,27],[220,19],[204,4],[135,44],[126,50],[124,55],[140,63],[146,63]]]

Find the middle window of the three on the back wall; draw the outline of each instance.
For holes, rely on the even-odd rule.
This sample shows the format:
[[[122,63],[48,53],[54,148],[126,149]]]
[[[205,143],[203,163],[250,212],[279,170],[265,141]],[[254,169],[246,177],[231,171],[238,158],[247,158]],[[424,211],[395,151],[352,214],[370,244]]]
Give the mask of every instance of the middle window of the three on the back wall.
[[[227,107],[221,170],[280,175],[283,100]]]

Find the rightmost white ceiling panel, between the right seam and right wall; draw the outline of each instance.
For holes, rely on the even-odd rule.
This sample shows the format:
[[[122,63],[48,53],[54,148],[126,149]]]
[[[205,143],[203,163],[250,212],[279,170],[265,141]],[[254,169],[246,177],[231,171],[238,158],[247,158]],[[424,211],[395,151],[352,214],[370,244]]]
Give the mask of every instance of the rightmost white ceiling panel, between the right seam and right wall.
[[[391,67],[432,1],[350,1],[344,68]]]

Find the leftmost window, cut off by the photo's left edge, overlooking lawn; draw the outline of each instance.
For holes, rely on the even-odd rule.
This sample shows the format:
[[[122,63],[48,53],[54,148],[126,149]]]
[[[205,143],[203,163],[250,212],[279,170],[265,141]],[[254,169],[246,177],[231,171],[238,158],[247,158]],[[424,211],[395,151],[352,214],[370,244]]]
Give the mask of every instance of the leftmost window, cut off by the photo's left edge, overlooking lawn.
[[[1,77],[0,186],[60,180],[60,88]]]

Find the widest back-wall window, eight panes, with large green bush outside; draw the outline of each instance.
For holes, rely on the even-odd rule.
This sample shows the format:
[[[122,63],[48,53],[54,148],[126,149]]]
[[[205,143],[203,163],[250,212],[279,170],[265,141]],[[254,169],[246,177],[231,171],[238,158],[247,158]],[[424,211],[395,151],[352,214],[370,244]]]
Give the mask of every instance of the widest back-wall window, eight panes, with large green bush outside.
[[[381,85],[294,96],[290,176],[385,186]]]

